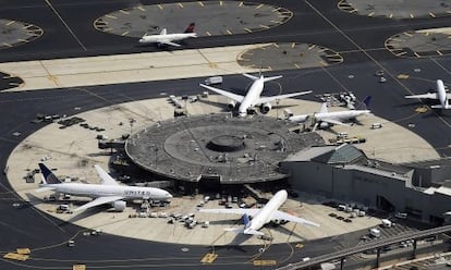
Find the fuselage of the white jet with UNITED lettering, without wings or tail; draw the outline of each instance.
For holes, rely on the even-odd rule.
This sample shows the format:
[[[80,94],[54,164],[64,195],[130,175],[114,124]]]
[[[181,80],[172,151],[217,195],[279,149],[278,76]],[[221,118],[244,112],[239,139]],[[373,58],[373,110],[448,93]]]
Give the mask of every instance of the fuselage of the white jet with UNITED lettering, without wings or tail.
[[[45,187],[53,188],[54,192],[82,197],[109,197],[120,196],[124,199],[158,199],[166,200],[172,196],[160,188],[125,186],[125,185],[99,185],[83,183],[46,184]]]

